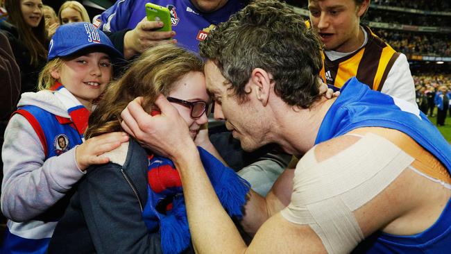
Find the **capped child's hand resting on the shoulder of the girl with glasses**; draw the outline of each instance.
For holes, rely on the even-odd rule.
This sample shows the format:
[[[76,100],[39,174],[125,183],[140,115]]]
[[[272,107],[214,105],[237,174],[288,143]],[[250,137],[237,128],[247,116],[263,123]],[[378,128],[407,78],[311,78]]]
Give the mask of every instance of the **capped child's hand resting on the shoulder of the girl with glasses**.
[[[117,149],[121,143],[128,141],[126,133],[106,133],[87,139],[86,142],[76,147],[75,158],[78,168],[85,171],[92,164],[108,163],[110,159],[99,155]]]

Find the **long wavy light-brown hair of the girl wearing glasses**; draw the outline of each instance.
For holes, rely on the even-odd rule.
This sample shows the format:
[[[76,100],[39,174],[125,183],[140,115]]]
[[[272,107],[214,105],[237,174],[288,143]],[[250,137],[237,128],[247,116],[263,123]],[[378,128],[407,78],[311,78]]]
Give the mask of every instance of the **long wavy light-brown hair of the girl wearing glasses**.
[[[150,112],[159,94],[167,96],[173,84],[189,72],[203,73],[203,61],[174,44],[162,44],[142,53],[119,80],[105,90],[91,113],[85,137],[121,130],[121,112],[130,101],[144,97],[142,107]]]

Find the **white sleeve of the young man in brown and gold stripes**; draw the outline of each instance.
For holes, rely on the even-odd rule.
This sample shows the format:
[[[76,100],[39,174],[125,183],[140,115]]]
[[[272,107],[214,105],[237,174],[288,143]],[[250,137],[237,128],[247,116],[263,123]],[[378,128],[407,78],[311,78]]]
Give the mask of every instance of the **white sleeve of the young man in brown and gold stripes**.
[[[409,62],[407,62],[405,54],[400,53],[393,63],[380,92],[416,105],[414,78],[410,73]]]

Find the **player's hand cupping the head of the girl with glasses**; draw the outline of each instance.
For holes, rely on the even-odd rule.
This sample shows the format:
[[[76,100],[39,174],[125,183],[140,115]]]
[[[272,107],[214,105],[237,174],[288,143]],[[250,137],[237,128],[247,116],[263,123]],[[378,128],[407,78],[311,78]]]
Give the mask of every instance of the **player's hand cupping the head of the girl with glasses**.
[[[160,94],[155,105],[160,115],[148,115],[142,108],[142,97],[128,103],[121,113],[121,126],[142,146],[171,160],[185,153],[189,146],[196,149],[185,120],[176,108]]]

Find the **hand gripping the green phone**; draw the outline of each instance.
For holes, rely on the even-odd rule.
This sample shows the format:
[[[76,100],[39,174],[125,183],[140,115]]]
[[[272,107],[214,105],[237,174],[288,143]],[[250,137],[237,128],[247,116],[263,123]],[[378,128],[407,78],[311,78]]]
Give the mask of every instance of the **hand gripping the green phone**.
[[[124,57],[130,59],[133,56],[144,52],[151,46],[161,43],[176,44],[177,40],[169,38],[176,35],[175,31],[160,32],[155,29],[163,27],[162,22],[148,21],[144,17],[135,27],[124,36]]]

